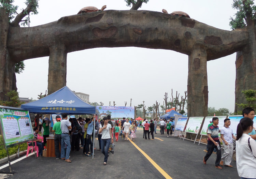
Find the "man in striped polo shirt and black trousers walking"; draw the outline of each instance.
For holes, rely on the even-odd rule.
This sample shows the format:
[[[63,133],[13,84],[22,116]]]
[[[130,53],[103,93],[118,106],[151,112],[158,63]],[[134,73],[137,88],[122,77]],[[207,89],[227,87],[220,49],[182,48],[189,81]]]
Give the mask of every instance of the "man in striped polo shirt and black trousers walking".
[[[217,151],[217,158],[215,161],[215,168],[222,169],[221,166],[219,166],[219,163],[221,162],[221,142],[219,141],[219,119],[217,117],[212,118],[213,124],[208,128],[208,152],[203,157],[203,163],[206,164],[206,161],[211,156],[214,148]]]

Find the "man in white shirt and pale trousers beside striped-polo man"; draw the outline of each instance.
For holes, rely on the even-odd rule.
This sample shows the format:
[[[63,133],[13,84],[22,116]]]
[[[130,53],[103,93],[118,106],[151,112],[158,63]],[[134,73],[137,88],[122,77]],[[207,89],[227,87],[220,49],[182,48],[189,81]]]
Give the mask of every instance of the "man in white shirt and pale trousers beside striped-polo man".
[[[227,166],[227,167],[233,167],[230,165],[232,155],[233,155],[233,139],[236,139],[236,137],[233,135],[232,129],[229,127],[230,126],[230,119],[225,119],[224,120],[224,127],[221,129],[221,138],[222,138],[222,143],[223,143],[223,148],[224,148],[224,153],[221,158],[221,162],[219,163],[220,165]]]

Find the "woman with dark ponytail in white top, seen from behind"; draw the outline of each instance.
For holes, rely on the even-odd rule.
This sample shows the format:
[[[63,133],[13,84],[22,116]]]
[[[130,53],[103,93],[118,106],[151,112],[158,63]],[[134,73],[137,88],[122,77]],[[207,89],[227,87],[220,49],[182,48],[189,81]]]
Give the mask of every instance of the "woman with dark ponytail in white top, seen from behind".
[[[256,178],[256,141],[248,135],[252,130],[253,120],[250,118],[242,118],[237,125],[236,158],[241,179]]]

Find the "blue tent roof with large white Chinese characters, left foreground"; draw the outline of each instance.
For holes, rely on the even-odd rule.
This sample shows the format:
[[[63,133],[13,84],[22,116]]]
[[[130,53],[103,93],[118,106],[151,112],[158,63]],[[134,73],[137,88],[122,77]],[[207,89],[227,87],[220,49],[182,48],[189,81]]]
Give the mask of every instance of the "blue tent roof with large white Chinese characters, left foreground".
[[[58,91],[27,104],[21,108],[29,110],[30,113],[43,114],[95,114],[96,107],[85,103],[67,86]]]

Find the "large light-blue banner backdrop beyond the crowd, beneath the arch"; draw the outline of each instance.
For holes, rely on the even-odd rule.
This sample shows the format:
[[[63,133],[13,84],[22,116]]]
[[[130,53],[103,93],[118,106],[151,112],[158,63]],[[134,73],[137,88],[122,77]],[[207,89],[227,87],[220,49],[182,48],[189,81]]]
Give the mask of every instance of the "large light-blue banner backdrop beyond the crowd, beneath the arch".
[[[123,117],[134,119],[134,107],[132,106],[96,106],[96,113],[101,119],[108,115],[111,116],[111,119]]]

